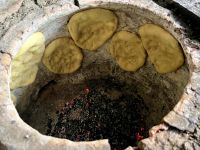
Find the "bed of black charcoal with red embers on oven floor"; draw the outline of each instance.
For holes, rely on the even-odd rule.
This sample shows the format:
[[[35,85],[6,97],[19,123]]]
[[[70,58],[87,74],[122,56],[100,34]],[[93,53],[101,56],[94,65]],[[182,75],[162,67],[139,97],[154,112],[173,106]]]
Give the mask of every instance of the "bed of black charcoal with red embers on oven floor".
[[[132,85],[114,78],[90,80],[80,95],[57,110],[56,123],[47,121],[47,135],[72,141],[109,139],[112,149],[136,146],[147,135],[146,109]]]

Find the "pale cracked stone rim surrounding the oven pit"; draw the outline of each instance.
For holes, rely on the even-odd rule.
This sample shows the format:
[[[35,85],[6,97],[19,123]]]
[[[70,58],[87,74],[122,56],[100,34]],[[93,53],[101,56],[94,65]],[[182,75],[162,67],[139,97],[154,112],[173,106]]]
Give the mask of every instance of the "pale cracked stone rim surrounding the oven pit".
[[[45,36],[49,37],[47,43],[56,36],[61,36],[63,25],[68,19],[66,16],[79,9],[73,5],[72,1],[70,3],[64,0],[36,2],[24,0],[19,9],[16,7],[13,9],[15,13],[11,12],[6,17],[0,15],[0,148],[11,150],[110,149],[107,140],[72,142],[44,136],[24,123],[19,117],[10,99],[9,76],[12,57],[17,53],[25,39],[35,31],[45,32]],[[200,44],[187,37],[184,28],[174,19],[170,11],[150,0],[79,1],[80,9],[99,5],[106,5],[110,8],[112,3],[121,4],[116,5],[115,9],[128,9],[127,5],[134,6],[133,12],[143,14],[169,30],[180,41],[190,68],[190,81],[184,89],[184,94],[174,109],[163,119],[167,128],[142,140],[140,148],[153,150],[200,149]],[[122,6],[122,4],[126,5]],[[58,19],[62,17],[65,19]],[[60,26],[57,26],[57,22]],[[51,30],[45,28],[49,23],[52,23]],[[56,34],[52,34],[54,31]]]

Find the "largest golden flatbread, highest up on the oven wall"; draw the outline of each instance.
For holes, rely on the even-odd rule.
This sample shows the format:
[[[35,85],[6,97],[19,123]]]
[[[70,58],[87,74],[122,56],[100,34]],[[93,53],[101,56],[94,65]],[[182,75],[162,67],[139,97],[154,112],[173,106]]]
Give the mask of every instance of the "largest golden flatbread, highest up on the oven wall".
[[[112,11],[95,8],[73,15],[67,27],[79,47],[93,51],[113,35],[117,22],[117,16]]]

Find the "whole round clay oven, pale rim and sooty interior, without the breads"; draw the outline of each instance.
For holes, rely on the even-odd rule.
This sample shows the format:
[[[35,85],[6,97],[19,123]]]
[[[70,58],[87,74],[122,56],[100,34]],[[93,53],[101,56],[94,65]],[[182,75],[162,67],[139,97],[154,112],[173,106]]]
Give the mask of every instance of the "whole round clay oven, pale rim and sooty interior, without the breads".
[[[200,148],[200,45],[187,36],[169,10],[147,0],[88,0],[79,1],[79,6],[59,1],[44,8],[32,5],[30,13],[11,25],[0,39],[0,148]],[[162,27],[179,42],[184,63],[177,70],[162,74],[147,56],[136,71],[123,70],[108,52],[109,38],[95,52],[83,49],[81,67],[75,72],[57,74],[39,61],[34,82],[11,88],[11,64],[29,37],[42,33],[45,47],[60,37],[71,37],[67,29],[70,18],[92,8],[112,11],[118,18],[116,32],[138,35],[144,24]],[[94,118],[88,119],[87,111]],[[62,129],[74,122],[74,126],[66,128],[71,132]],[[77,131],[81,130],[77,125],[84,128],[84,133]],[[92,138],[89,134],[96,133],[98,127],[107,131]],[[122,139],[117,139],[119,136]]]

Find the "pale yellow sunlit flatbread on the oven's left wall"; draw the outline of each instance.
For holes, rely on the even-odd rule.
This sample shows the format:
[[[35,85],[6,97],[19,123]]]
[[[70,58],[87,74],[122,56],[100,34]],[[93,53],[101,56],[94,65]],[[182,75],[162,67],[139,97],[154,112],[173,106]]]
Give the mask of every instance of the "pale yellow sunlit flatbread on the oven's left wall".
[[[35,81],[44,49],[45,37],[41,32],[32,34],[26,40],[11,64],[11,89],[27,86]]]

